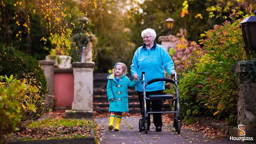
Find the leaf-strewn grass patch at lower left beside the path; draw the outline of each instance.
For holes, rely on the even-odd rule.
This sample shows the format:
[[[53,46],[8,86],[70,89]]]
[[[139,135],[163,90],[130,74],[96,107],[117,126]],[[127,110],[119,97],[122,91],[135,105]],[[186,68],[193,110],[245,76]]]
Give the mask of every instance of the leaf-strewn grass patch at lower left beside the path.
[[[91,137],[92,120],[78,119],[45,119],[35,121],[24,130],[17,131],[11,136],[5,136],[10,141],[15,140],[44,140]]]

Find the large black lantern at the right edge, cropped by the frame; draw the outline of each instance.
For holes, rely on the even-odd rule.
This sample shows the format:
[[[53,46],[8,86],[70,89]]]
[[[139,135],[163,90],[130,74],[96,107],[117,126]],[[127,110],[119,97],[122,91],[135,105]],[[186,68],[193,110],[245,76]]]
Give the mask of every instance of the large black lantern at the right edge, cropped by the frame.
[[[249,16],[240,23],[247,52],[256,52],[256,11],[253,13],[255,16]]]

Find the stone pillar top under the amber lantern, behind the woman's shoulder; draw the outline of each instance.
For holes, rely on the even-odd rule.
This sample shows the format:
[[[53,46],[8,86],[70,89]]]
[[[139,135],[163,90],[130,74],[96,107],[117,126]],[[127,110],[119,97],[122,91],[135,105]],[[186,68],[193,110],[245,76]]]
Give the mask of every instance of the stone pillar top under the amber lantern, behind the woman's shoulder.
[[[176,45],[180,42],[179,38],[173,35],[170,36],[160,36],[158,38],[159,42],[162,42],[161,45],[164,46],[167,52],[170,48],[176,49]]]

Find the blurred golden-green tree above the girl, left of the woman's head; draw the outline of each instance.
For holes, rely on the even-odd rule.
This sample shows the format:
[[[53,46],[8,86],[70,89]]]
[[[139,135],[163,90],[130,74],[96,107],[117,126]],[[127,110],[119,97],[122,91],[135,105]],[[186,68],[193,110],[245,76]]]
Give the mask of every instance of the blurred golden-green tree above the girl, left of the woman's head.
[[[124,62],[129,68],[132,64],[133,50],[127,22],[126,0],[100,0],[97,9],[88,9],[90,30],[96,35],[97,57],[95,72],[108,72],[116,62]],[[137,33],[134,33],[137,35]]]

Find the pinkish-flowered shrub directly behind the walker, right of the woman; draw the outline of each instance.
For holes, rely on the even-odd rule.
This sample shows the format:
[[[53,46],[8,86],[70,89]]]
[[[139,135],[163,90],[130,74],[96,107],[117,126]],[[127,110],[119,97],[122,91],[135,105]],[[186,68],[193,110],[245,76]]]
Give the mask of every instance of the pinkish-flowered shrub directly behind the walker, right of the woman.
[[[188,73],[190,73],[192,70],[195,69],[195,63],[198,62],[198,60],[201,58],[201,56],[206,51],[200,48],[199,45],[196,44],[196,42],[188,42],[187,40],[181,38],[180,44],[177,44],[177,50],[170,49],[170,55],[172,57],[175,71],[178,74],[178,80],[182,82],[182,77],[186,76]],[[189,82],[188,84],[193,83],[193,80]],[[179,90],[182,89],[182,87],[179,86]],[[174,89],[165,90],[165,92],[174,94]],[[179,93],[180,94],[180,93]],[[190,95],[190,93],[186,93],[186,95]],[[183,95],[180,94],[180,108],[182,108],[181,116],[184,118],[187,116],[186,111],[189,112],[191,109],[191,105],[195,105],[195,97],[183,97]],[[184,113],[185,112],[185,113]]]

